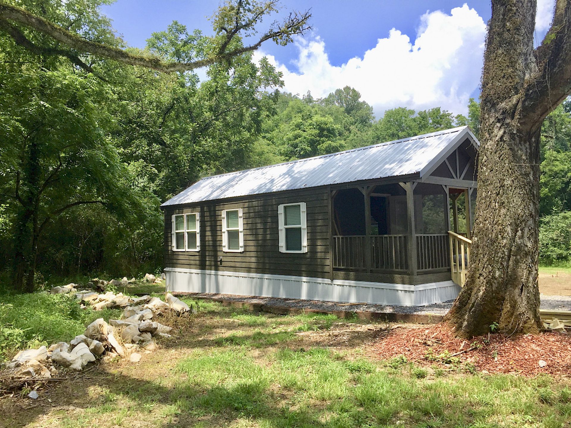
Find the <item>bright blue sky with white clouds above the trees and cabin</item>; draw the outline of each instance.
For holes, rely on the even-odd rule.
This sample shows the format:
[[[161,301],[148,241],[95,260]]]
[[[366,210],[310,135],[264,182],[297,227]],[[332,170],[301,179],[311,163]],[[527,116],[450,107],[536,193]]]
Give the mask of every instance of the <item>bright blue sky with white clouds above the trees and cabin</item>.
[[[538,0],[538,39],[548,28],[553,1]],[[218,5],[118,0],[103,12],[130,46],[144,47],[153,31],[173,20],[210,33],[207,17]],[[489,0],[283,0],[282,5],[280,15],[311,7],[313,26],[296,43],[266,42],[256,53],[283,72],[286,91],[319,97],[348,84],[377,116],[399,106],[465,113],[469,96],[479,93]]]

